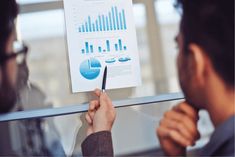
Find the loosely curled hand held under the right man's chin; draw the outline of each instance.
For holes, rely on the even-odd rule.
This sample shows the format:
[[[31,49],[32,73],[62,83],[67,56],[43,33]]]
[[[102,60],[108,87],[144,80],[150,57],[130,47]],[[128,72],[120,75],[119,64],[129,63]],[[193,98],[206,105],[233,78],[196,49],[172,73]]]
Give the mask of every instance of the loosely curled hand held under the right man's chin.
[[[166,155],[184,156],[186,147],[200,138],[197,128],[198,111],[183,102],[164,114],[157,136]]]

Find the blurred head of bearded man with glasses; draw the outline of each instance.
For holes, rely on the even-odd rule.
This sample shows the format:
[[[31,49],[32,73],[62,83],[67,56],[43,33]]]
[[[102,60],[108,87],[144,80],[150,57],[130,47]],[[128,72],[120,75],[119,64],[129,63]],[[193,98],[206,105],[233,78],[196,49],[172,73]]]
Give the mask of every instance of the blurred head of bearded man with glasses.
[[[17,64],[26,58],[28,50],[16,42],[17,14],[15,0],[0,1],[0,113],[10,111],[17,100]]]

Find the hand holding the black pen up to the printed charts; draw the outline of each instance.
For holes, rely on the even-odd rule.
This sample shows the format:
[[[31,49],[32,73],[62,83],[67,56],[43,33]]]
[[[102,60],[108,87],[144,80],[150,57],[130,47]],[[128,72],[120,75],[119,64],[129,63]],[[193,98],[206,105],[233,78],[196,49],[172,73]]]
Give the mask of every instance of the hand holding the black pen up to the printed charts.
[[[98,100],[90,102],[89,110],[86,114],[86,121],[89,125],[87,136],[100,131],[111,131],[116,118],[115,108],[108,95],[98,89],[94,93]]]

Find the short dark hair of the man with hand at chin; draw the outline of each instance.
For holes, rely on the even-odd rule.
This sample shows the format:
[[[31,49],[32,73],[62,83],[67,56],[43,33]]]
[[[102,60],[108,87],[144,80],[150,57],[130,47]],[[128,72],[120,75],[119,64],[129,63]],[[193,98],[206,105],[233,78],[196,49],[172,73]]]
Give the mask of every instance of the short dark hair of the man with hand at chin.
[[[234,0],[177,0],[182,11],[184,51],[198,44],[215,71],[234,88]]]

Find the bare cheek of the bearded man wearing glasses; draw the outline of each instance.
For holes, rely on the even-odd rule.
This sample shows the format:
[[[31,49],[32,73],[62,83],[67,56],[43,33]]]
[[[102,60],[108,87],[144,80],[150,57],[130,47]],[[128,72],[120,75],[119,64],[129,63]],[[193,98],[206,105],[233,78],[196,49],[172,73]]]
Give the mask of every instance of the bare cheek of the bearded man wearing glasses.
[[[6,64],[7,64],[6,65],[7,75],[8,78],[10,79],[9,81],[11,82],[12,86],[15,87],[17,82],[17,72],[18,72],[16,60],[15,59],[9,60],[9,62]]]

